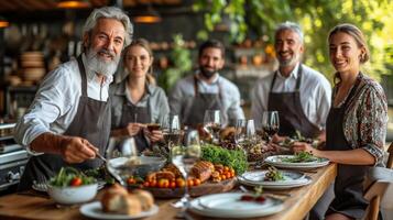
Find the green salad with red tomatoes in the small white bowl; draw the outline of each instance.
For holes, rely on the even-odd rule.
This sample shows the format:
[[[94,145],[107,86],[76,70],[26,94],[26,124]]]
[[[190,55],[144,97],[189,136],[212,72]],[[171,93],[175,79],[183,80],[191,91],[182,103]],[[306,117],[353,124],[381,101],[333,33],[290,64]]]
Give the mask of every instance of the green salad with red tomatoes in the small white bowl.
[[[81,186],[96,183],[94,177],[86,176],[74,167],[62,167],[56,176],[51,178],[50,184],[57,187]]]

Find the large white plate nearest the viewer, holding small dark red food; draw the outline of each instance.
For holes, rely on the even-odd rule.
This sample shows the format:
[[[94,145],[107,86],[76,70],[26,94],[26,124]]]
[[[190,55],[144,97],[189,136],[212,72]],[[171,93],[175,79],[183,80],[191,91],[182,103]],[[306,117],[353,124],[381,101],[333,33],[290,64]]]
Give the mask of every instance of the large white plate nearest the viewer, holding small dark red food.
[[[243,195],[227,193],[203,196],[190,202],[189,210],[200,216],[233,219],[269,216],[284,208],[282,200],[269,197],[264,202],[241,201]]]

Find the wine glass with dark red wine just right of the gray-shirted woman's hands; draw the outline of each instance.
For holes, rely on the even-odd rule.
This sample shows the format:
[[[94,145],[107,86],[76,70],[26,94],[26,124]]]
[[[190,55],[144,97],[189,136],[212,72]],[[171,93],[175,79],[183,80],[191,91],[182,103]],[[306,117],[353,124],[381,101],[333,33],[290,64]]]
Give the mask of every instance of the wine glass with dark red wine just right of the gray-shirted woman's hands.
[[[183,131],[177,114],[170,114],[164,118],[161,124],[165,144],[168,148],[178,145],[182,141]]]

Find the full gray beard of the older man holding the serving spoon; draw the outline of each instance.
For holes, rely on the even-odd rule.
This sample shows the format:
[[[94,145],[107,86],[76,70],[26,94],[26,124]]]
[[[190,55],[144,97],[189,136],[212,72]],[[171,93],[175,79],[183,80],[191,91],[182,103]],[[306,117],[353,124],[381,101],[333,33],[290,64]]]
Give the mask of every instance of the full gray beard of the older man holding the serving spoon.
[[[106,77],[112,76],[118,68],[120,56],[114,56],[112,62],[100,59],[97,51],[89,48],[86,53],[87,68]]]

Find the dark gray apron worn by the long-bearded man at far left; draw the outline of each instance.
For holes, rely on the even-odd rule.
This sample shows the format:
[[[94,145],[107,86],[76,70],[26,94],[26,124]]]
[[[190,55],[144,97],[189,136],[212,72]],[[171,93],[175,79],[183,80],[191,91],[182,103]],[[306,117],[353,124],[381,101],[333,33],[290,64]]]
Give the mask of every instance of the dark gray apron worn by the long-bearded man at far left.
[[[105,154],[110,134],[110,100],[99,101],[87,96],[86,70],[81,57],[77,58],[81,77],[81,96],[78,109],[73,122],[64,132],[64,135],[79,136],[88,140],[98,147],[101,155]],[[68,164],[58,154],[42,154],[32,156],[25,166],[18,190],[30,189],[33,180],[48,180],[64,166],[73,166],[78,169],[97,168],[102,164],[99,158],[88,160],[79,164]]]

